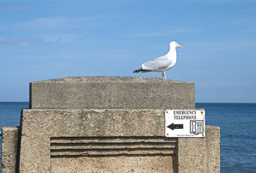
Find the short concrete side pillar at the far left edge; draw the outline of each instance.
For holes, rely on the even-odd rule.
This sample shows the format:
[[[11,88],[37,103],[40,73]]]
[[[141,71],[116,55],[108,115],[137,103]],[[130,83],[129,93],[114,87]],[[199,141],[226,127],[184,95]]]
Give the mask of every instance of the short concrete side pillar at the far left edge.
[[[2,127],[2,173],[18,172],[19,127]]]

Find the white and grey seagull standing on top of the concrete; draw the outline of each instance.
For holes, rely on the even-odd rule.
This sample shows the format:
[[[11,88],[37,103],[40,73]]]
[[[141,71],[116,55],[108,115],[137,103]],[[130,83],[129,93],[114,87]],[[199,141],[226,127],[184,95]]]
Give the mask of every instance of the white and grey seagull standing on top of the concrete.
[[[163,79],[166,79],[166,70],[171,69],[176,64],[176,47],[182,48],[177,42],[172,41],[169,43],[169,52],[166,55],[155,58],[153,61],[148,61],[142,64],[142,68],[134,70],[133,73],[145,72],[162,72]]]

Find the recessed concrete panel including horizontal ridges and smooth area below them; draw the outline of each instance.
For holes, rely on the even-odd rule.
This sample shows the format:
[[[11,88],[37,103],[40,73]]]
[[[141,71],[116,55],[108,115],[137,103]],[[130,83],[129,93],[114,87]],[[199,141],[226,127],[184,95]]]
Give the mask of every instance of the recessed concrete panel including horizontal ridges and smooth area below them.
[[[50,172],[177,172],[176,148],[160,136],[51,138]]]

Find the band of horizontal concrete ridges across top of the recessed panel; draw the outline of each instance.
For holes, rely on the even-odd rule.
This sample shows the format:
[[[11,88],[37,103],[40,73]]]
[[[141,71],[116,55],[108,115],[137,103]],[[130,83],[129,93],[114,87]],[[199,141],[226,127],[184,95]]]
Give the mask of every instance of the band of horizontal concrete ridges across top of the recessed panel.
[[[51,157],[172,156],[177,139],[161,136],[53,137]]]

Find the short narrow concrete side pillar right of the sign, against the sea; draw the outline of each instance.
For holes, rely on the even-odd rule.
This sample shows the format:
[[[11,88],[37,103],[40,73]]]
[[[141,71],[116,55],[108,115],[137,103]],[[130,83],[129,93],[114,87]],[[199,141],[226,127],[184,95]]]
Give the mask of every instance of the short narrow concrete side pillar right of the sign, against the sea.
[[[207,172],[221,172],[220,127],[206,126]]]

